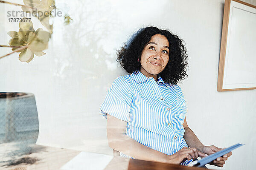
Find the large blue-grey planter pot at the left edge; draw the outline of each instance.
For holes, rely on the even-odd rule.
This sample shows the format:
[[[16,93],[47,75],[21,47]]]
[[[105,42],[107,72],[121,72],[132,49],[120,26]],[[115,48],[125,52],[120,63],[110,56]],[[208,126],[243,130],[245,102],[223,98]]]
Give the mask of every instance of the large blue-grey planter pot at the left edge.
[[[0,92],[0,143],[35,144],[38,130],[34,94]]]

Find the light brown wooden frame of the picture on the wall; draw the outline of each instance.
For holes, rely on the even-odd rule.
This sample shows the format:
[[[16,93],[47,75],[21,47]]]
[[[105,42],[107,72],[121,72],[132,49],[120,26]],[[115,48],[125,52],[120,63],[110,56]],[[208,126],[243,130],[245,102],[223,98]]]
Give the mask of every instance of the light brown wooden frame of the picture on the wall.
[[[233,1],[233,2],[231,2],[231,1]],[[252,7],[252,8],[256,8],[256,6],[253,6],[253,5],[248,4],[248,3],[244,3],[240,0],[225,0],[223,23],[222,23],[222,35],[221,35],[221,51],[220,51],[220,60],[219,60],[219,68],[218,68],[218,87],[217,87],[217,91],[234,91],[234,90],[256,89],[256,83],[254,84],[254,82],[253,82],[253,84],[251,84],[252,87],[243,87],[242,84],[245,84],[245,83],[241,83],[241,88],[240,87],[239,88],[238,87],[236,87],[236,88],[227,88],[227,86],[225,88],[223,88],[225,86],[225,84],[223,82],[224,81],[226,82],[226,77],[224,79],[224,72],[225,72],[224,68],[225,68],[225,63],[227,63],[227,61],[225,61],[225,58],[227,58],[226,57],[226,51],[227,51],[227,45],[228,45],[227,40],[228,40],[228,33],[229,33],[228,32],[229,31],[228,26],[229,26],[230,19],[232,19],[232,18],[230,18],[230,4],[235,5],[235,4],[238,4],[238,3],[243,4],[245,6]],[[256,56],[256,54],[254,56]],[[236,85],[236,86],[239,86],[239,85]],[[250,86],[250,85],[247,85],[247,86]]]

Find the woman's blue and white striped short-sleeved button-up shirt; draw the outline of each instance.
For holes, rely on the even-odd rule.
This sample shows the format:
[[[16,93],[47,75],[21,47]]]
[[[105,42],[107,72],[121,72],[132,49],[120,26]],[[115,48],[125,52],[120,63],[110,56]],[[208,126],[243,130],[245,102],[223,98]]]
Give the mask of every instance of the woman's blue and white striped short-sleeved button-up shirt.
[[[126,121],[126,135],[154,150],[172,155],[188,147],[183,138],[186,102],[180,87],[164,82],[160,75],[156,82],[137,72],[114,80],[100,107],[102,115]]]

